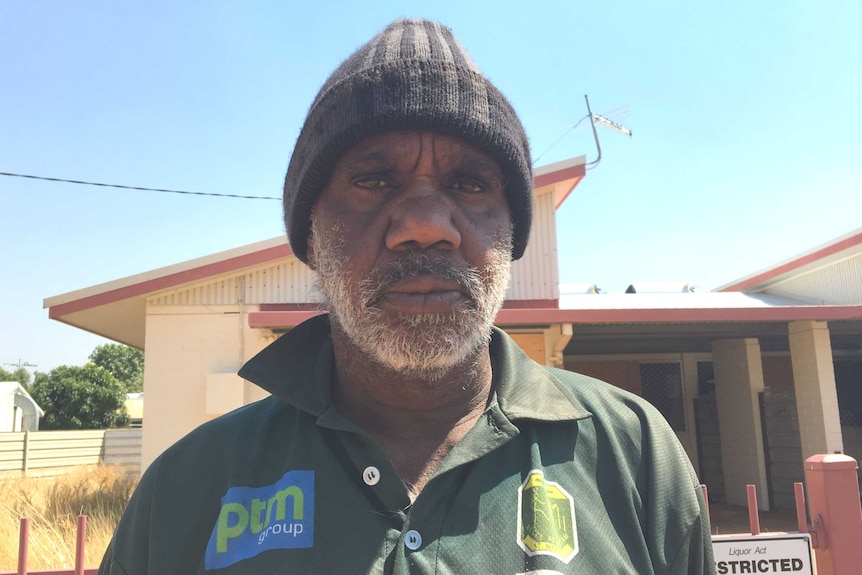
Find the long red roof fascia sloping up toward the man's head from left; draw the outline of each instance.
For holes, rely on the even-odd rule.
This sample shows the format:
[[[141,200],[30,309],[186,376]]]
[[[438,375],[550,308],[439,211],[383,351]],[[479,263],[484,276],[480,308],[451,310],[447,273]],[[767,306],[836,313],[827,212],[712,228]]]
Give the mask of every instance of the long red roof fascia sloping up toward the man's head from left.
[[[113,289],[110,291],[98,293],[92,296],[81,299],[72,300],[66,303],[61,303],[48,308],[48,317],[51,319],[59,319],[70,313],[82,311],[85,309],[94,308],[100,305],[105,305],[141,296],[147,293],[169,289],[184,283],[189,283],[201,280],[207,277],[218,274],[232,272],[244,267],[249,267],[261,264],[270,260],[293,255],[290,246],[287,244],[266,248],[250,254],[244,254],[234,258],[228,258],[211,264],[202,265],[200,267],[183,270],[181,272],[168,274],[165,276],[153,278],[138,282],[129,286]]]

